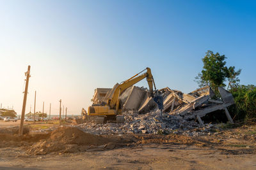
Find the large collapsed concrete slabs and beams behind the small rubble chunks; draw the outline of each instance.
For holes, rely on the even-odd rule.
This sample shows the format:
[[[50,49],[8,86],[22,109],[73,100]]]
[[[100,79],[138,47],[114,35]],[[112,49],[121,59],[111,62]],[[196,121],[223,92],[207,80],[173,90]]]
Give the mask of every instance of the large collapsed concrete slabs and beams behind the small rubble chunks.
[[[170,115],[180,115],[186,120],[198,119],[198,122],[203,125],[200,120],[207,113],[216,110],[225,110],[228,121],[233,122],[227,107],[234,104],[234,97],[230,92],[218,87],[222,99],[212,99],[215,96],[211,87],[203,87],[189,94],[184,94],[179,90],[171,90],[168,87],[159,90],[163,96],[163,112]],[[143,97],[144,96],[144,97]],[[148,90],[139,87],[130,87],[125,90],[120,96],[124,111],[138,111],[139,114],[149,112],[159,112],[157,104],[150,97]]]

